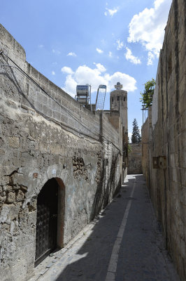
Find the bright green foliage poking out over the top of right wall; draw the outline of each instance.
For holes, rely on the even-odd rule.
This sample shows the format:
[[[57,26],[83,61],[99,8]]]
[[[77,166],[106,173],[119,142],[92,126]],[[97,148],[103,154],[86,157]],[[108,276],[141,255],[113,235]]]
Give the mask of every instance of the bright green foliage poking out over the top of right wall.
[[[141,92],[142,98],[140,101],[145,105],[145,108],[148,108],[152,105],[152,96],[155,91],[155,79],[149,80],[145,83],[145,89],[143,93]]]

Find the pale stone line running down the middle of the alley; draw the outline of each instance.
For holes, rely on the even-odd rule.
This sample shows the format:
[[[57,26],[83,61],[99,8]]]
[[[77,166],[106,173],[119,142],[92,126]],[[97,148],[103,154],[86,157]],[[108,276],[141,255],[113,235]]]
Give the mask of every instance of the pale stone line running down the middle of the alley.
[[[136,187],[136,181],[134,182],[133,188],[131,190],[130,197],[133,197],[135,187]],[[128,215],[129,215],[130,207],[131,207],[131,200],[129,200],[129,202],[127,204],[127,208],[124,212],[124,216],[123,216],[123,219],[122,219],[120,229],[117,233],[117,238],[115,240],[113,251],[112,251],[112,254],[110,256],[110,262],[109,262],[109,265],[108,265],[108,270],[107,270],[107,275],[106,275],[105,281],[115,281],[115,273],[116,273],[116,269],[117,269],[117,260],[118,260],[118,256],[119,256],[120,246],[121,246],[121,243],[122,243],[122,237],[124,235],[124,229],[125,229],[125,226],[127,224],[127,218],[128,218]]]

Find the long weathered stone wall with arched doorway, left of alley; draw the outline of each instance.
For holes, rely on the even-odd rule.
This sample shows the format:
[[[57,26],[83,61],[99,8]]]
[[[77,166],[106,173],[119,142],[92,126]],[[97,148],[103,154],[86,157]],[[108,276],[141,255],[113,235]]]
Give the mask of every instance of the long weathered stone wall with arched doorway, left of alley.
[[[0,50],[0,272],[1,281],[22,281],[34,270],[36,203],[43,185],[55,178],[64,189],[57,234],[63,247],[120,188],[122,128],[31,67],[1,25]]]

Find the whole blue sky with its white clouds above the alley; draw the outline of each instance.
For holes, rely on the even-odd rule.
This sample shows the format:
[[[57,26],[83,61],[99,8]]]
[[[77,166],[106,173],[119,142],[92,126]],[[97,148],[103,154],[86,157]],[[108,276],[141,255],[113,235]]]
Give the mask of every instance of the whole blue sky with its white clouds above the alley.
[[[131,133],[134,118],[142,125],[140,92],[156,77],[170,6],[171,0],[8,0],[0,18],[27,61],[71,96],[76,84],[91,84],[93,91],[106,84],[109,109],[120,81],[128,91]]]

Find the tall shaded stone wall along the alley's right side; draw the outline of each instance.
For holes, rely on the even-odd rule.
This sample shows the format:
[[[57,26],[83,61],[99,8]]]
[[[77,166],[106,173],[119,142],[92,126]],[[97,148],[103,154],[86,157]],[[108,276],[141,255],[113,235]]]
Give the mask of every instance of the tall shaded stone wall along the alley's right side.
[[[150,178],[150,195],[162,222],[166,245],[186,280],[186,2],[174,0],[159,57],[152,126],[148,131],[150,166],[143,166]],[[150,131],[152,130],[152,132]],[[145,139],[146,141],[146,139]],[[165,157],[165,166],[152,167],[152,157]],[[143,162],[144,164],[144,162]],[[157,163],[158,164],[158,163]]]

